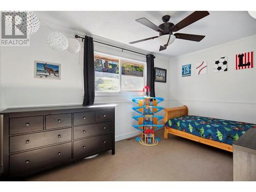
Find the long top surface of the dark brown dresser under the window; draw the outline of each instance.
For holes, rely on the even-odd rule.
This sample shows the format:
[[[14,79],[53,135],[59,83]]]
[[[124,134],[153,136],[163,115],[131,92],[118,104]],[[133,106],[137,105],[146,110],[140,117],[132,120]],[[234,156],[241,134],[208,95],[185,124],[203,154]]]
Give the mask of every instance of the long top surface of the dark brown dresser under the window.
[[[27,108],[9,108],[0,111],[0,115],[11,113],[23,113],[23,112],[36,112],[36,111],[55,111],[55,110],[75,110],[75,109],[89,109],[89,108],[113,108],[117,104],[94,104],[90,106],[83,105],[60,105],[60,106],[38,106]]]

